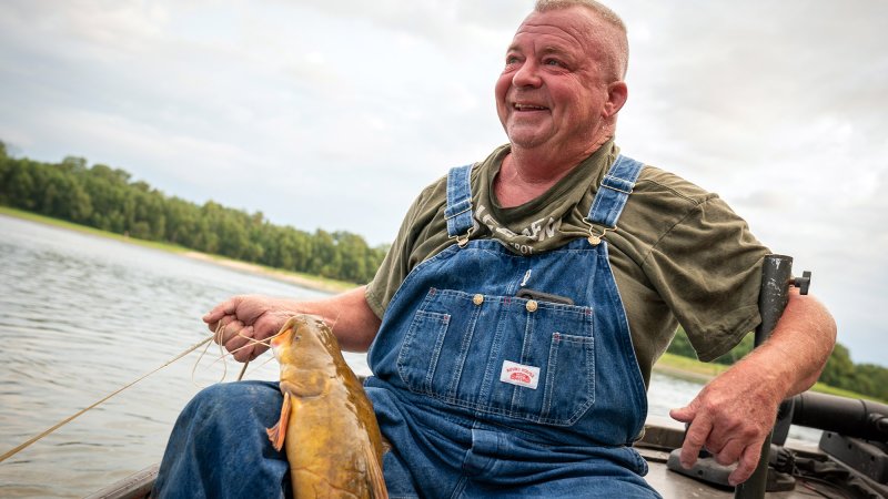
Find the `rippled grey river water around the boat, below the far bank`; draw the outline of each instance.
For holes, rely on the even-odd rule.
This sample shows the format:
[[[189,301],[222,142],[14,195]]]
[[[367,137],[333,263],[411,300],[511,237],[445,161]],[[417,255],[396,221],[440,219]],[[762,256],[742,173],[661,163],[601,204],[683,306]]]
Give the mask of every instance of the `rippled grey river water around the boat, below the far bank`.
[[[0,452],[72,416],[209,334],[200,317],[243,293],[323,293],[212,263],[0,215]],[[0,462],[0,497],[83,497],[160,461],[184,404],[233,380],[218,347],[163,368]],[[364,356],[347,354],[359,374]],[[245,379],[275,379],[270,355]],[[650,414],[702,385],[655,374]],[[817,434],[797,438],[816,441]]]

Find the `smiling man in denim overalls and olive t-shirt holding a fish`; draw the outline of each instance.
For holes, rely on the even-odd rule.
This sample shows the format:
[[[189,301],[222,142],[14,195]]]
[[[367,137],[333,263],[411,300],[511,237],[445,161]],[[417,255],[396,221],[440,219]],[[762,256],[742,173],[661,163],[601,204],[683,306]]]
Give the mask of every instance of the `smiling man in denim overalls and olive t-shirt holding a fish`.
[[[537,3],[496,83],[509,143],[414,202],[376,277],[317,302],[231,298],[204,320],[245,360],[295,313],[370,348],[366,391],[392,442],[392,497],[658,497],[630,445],[682,323],[713,359],[759,322],[767,253],[717,196],[619,154],[625,28],[593,1]],[[747,479],[787,396],[817,378],[835,324],[793,294],[769,343],[672,413]],[[262,438],[273,384],[200,394],[173,430],[161,496],[280,496]]]

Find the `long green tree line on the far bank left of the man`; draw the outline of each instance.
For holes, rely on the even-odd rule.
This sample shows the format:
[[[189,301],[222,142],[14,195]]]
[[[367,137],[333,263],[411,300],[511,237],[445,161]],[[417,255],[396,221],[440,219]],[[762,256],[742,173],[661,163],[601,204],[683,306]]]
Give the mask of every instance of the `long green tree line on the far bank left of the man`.
[[[12,157],[0,142],[0,204],[148,241],[270,267],[369,282],[386,247],[349,232],[313,234],[209,201],[167,196],[120,169],[82,157],[43,163]]]

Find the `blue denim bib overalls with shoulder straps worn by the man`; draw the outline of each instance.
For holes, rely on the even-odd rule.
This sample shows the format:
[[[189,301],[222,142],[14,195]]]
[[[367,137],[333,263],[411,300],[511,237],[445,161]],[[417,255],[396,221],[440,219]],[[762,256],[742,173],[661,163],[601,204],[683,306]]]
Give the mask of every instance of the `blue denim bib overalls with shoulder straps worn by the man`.
[[[589,212],[596,227],[616,226],[640,169],[617,159]],[[367,357],[366,391],[394,446],[390,496],[659,497],[630,448],[647,399],[601,231],[519,256],[468,241],[471,200],[470,169],[453,170],[457,243],[410,273]],[[173,428],[154,496],[289,497],[290,466],[265,435],[281,401],[271,381],[202,390]]]

